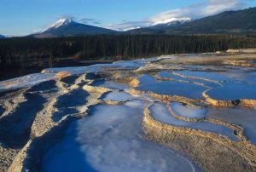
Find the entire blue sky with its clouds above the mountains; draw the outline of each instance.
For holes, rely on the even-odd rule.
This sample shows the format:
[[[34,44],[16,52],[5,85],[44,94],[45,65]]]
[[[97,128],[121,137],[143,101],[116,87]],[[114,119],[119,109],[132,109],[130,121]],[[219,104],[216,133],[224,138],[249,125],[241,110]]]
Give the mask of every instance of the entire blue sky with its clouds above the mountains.
[[[61,18],[125,30],[170,18],[200,18],[255,7],[256,0],[1,0],[0,34],[42,31]]]

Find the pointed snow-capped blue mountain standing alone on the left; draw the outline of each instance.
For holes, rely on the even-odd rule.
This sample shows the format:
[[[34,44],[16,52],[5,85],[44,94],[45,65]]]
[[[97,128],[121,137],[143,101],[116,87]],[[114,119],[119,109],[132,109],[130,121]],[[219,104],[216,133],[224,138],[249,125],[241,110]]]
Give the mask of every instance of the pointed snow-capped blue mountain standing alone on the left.
[[[32,37],[72,37],[113,33],[116,33],[116,31],[97,26],[84,25],[71,19],[61,19],[49,26],[44,32],[33,34]]]

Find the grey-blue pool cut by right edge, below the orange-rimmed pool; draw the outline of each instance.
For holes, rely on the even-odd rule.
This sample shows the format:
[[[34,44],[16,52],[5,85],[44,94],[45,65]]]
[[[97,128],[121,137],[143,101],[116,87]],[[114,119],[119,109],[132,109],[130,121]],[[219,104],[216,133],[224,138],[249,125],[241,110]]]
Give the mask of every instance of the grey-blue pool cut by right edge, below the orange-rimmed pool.
[[[207,116],[240,125],[247,139],[256,145],[256,109],[209,109]]]

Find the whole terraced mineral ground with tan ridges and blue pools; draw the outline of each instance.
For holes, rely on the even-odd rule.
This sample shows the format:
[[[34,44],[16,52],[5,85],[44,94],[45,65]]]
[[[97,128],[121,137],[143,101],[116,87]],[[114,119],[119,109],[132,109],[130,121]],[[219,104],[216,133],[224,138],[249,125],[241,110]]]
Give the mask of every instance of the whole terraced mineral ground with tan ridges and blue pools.
[[[82,154],[90,163],[90,171],[131,167],[137,171],[254,171],[255,86],[256,54],[244,50],[45,69],[42,73],[0,82],[0,171],[50,171],[46,167],[61,171],[49,162],[49,157],[71,137],[73,143],[85,150]],[[132,113],[134,118],[118,118],[119,113],[129,111],[137,112]],[[102,117],[105,112],[107,117]],[[244,118],[237,120],[239,123],[234,120],[239,115],[235,112],[243,114]],[[97,120],[108,125],[96,128]],[[72,128],[72,123],[83,127]],[[101,131],[101,135],[82,132],[86,126],[93,133]],[[77,136],[67,136],[67,129]],[[123,146],[105,147],[111,140],[104,140],[104,135],[114,142],[134,141],[136,146],[129,151],[134,151],[133,156],[125,156]],[[86,142],[85,138],[106,142],[95,147],[94,142]],[[104,157],[90,153],[99,147]],[[64,156],[65,150],[58,152]],[[153,157],[148,162],[154,163],[143,157],[150,150],[159,154],[148,155]],[[125,159],[120,162],[123,166],[106,160],[117,161],[120,157]],[[134,157],[143,167],[132,160]],[[102,163],[91,160],[96,158],[101,158]],[[174,158],[180,159],[177,163],[189,163],[184,169],[178,169],[176,163],[168,166],[167,162]],[[156,159],[162,159],[165,165],[158,166]]]

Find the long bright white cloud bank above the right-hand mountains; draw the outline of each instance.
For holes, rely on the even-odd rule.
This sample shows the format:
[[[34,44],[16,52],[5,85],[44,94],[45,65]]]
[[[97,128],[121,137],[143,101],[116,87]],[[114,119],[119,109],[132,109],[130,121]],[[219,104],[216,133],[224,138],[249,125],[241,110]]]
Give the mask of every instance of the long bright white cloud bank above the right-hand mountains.
[[[139,28],[152,26],[154,24],[165,23],[170,20],[178,19],[199,19],[201,17],[218,14],[226,10],[242,9],[247,0],[205,0],[204,3],[195,3],[188,7],[172,9],[160,14],[155,14],[147,20],[125,21],[119,24],[112,24],[106,27],[114,30],[129,30],[130,28]]]

